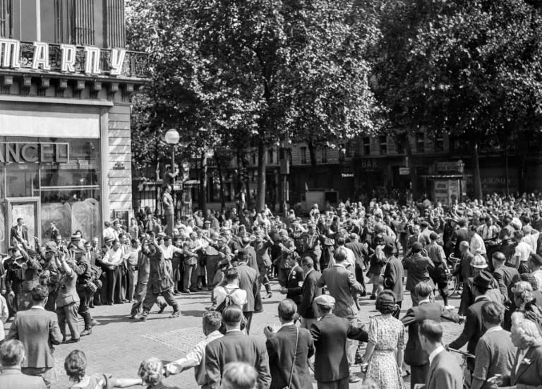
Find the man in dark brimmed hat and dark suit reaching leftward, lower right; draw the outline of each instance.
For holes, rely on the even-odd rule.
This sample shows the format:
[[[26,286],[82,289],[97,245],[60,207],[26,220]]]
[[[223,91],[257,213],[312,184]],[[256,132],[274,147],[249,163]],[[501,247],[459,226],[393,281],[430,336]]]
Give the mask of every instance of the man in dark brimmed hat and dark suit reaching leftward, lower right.
[[[475,354],[478,340],[486,333],[486,329],[483,327],[482,306],[489,301],[485,293],[490,289],[491,282],[493,282],[493,277],[486,270],[482,270],[474,277],[472,287],[474,304],[466,309],[466,321],[463,332],[456,340],[450,343],[448,347],[451,347],[452,349],[461,349],[461,347],[468,342],[466,352],[473,355]],[[469,358],[466,363],[469,371],[474,371],[474,359]]]

